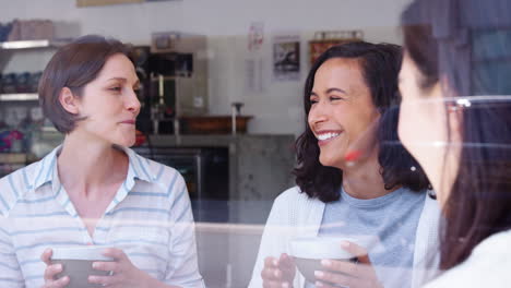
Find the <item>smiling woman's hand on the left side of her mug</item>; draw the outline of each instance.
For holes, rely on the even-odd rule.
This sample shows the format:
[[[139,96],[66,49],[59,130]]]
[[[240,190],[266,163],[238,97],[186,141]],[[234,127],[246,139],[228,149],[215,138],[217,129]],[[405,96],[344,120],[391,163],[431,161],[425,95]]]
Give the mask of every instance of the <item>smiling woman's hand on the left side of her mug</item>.
[[[263,288],[292,288],[295,273],[295,262],[287,254],[281,254],[278,259],[266,257],[261,272]]]

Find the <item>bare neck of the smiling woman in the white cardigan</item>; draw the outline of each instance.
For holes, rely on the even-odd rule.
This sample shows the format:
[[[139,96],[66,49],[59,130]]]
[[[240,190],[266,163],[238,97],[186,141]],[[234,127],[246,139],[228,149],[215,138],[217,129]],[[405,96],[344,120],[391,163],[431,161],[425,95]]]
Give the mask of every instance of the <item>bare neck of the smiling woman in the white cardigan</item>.
[[[342,168],[344,191],[353,197],[363,200],[376,199],[391,193],[395,189],[385,190],[380,169],[378,149],[373,149],[369,157],[352,166],[345,165]]]

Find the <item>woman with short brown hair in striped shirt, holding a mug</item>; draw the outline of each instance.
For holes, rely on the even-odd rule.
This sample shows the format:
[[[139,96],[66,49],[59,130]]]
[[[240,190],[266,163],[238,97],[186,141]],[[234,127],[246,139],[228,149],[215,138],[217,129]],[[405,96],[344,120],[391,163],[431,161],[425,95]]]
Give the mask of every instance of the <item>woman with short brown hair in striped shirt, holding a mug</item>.
[[[97,245],[107,287],[204,287],[185,180],[136,155],[139,79],[127,46],[84,36],[61,47],[39,85],[64,133],[40,161],[0,179],[0,286],[64,287],[54,249]],[[40,259],[39,259],[40,255]]]

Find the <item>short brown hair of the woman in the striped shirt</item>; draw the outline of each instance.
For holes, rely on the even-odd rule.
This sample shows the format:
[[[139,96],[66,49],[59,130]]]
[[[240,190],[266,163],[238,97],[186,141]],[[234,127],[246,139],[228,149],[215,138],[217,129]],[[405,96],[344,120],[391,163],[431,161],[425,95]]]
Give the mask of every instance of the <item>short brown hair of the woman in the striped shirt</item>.
[[[96,79],[108,58],[116,53],[130,58],[130,48],[116,39],[86,35],[62,46],[54,55],[43,72],[38,94],[45,117],[58,131],[70,133],[81,120],[60,104],[62,88],[68,87],[74,96],[82,96],[83,87]]]

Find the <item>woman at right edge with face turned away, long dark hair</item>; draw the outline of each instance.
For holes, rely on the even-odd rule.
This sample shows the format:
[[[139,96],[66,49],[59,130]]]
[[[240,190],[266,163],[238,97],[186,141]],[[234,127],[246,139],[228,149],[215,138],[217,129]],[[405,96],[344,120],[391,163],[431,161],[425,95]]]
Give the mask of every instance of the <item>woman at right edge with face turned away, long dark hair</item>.
[[[399,134],[445,221],[427,287],[511,285],[511,2],[416,0],[403,13]]]

